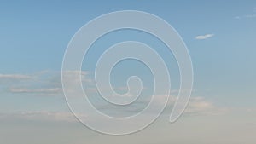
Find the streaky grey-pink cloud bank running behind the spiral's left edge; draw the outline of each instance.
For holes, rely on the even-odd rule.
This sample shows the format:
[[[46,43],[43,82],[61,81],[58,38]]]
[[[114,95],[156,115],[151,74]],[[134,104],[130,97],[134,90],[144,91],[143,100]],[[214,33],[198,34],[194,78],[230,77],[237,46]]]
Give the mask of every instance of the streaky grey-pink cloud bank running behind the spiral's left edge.
[[[80,78],[73,77],[78,75],[81,76],[82,82],[86,84],[86,86],[92,83],[92,79],[89,78],[89,72],[87,71],[67,71],[63,73],[67,77],[68,83],[79,83]],[[26,80],[26,83],[20,80]],[[41,95],[56,95],[62,93],[61,72],[44,71],[30,75],[0,74],[0,82],[4,89],[3,91],[9,93]]]

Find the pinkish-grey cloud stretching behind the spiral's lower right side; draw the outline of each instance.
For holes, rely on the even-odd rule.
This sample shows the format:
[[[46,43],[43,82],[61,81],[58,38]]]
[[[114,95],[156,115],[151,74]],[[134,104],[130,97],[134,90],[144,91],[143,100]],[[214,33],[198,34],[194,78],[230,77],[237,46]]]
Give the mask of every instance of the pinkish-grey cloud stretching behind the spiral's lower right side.
[[[155,95],[156,103],[154,103],[155,107],[163,106],[166,103],[165,96],[163,95]],[[149,100],[140,100],[135,101],[132,105],[127,107],[117,107],[111,104],[100,104],[97,105],[97,109],[102,112],[114,113],[116,115],[125,115],[130,116],[131,114],[136,114],[137,112],[141,112],[145,107],[147,107]],[[177,101],[177,96],[170,95],[169,101],[166,104],[165,114],[170,115],[172,112],[172,108],[174,103]],[[224,107],[217,107],[212,101],[208,101],[206,98],[198,96],[191,97],[189,100],[188,107],[184,111],[184,115],[186,116],[194,116],[194,115],[221,115],[228,112],[228,110]]]

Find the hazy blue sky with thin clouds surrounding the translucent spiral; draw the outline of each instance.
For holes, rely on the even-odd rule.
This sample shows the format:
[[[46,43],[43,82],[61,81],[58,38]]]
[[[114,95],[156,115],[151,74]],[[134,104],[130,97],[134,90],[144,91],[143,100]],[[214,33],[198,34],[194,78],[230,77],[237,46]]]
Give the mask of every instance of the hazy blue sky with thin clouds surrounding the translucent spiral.
[[[183,38],[193,63],[194,85],[189,105],[177,122],[168,123],[172,100],[155,123],[125,136],[96,133],[70,112],[61,87],[61,65],[67,44],[81,26],[118,10],[157,15]],[[256,141],[256,2],[253,0],[1,1],[0,17],[0,143],[253,144]],[[146,106],[141,102],[128,110],[113,112],[116,107],[97,98],[96,61],[108,47],[125,40],[147,43],[165,60],[172,81],[170,95],[175,99],[180,81],[172,53],[145,32],[124,30],[101,37],[84,58],[83,86],[93,95],[92,103],[102,112],[118,116]],[[113,68],[113,88],[124,93],[126,79],[135,74],[142,78],[142,95],[147,98],[153,91],[154,79],[148,67],[136,60],[122,61]]]

